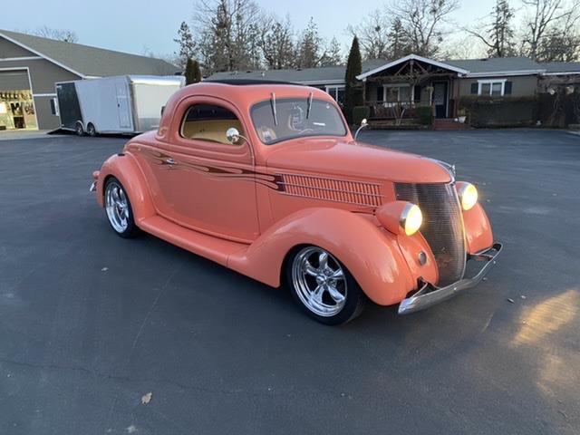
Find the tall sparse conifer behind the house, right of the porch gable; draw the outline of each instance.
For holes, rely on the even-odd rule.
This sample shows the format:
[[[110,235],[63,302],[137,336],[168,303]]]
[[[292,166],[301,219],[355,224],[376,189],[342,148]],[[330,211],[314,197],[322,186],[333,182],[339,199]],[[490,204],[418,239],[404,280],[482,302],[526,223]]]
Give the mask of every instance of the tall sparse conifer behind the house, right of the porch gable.
[[[485,18],[486,23],[478,28],[464,30],[488,47],[488,56],[506,57],[515,53],[513,18],[514,10],[509,7],[507,0],[497,0],[493,11]]]

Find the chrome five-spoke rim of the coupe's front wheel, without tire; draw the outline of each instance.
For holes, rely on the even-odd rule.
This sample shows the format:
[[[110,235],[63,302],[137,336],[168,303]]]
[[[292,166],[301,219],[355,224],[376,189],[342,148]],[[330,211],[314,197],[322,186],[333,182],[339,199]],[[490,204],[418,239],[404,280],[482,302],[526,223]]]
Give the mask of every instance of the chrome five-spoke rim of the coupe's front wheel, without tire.
[[[343,266],[321,247],[304,247],[296,254],[292,285],[300,301],[314,314],[331,317],[346,303]]]

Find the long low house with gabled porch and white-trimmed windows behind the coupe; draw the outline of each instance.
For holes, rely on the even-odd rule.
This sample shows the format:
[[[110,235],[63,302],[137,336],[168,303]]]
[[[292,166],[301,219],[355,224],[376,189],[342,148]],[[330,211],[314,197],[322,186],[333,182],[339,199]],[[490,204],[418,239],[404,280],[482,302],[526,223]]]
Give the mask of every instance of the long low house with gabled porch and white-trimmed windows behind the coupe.
[[[319,87],[343,102],[344,75],[345,67],[336,66],[216,73],[208,80],[295,82]],[[534,97],[549,90],[548,82],[580,82],[580,63],[536,63],[526,57],[436,61],[409,54],[367,61],[357,79],[372,119],[412,118],[420,106],[430,106],[436,119],[454,119],[462,97]]]

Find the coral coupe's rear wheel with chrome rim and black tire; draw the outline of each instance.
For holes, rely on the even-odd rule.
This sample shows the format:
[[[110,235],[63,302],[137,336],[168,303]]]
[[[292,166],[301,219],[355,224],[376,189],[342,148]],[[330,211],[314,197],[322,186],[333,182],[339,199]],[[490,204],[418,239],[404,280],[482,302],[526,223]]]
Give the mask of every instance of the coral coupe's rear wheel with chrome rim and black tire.
[[[116,195],[115,195],[116,193]],[[121,182],[114,177],[107,179],[104,189],[104,204],[112,230],[120,237],[132,238],[139,234],[135,225],[131,201]],[[121,206],[121,204],[123,204]]]

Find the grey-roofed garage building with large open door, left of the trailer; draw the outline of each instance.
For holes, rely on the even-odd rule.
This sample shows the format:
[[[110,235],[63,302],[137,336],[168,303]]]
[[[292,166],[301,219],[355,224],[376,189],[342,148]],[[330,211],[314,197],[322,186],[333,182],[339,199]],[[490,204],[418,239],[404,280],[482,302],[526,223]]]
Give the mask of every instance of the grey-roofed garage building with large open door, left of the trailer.
[[[148,56],[0,29],[0,134],[59,127],[55,82],[176,71],[174,65]]]

